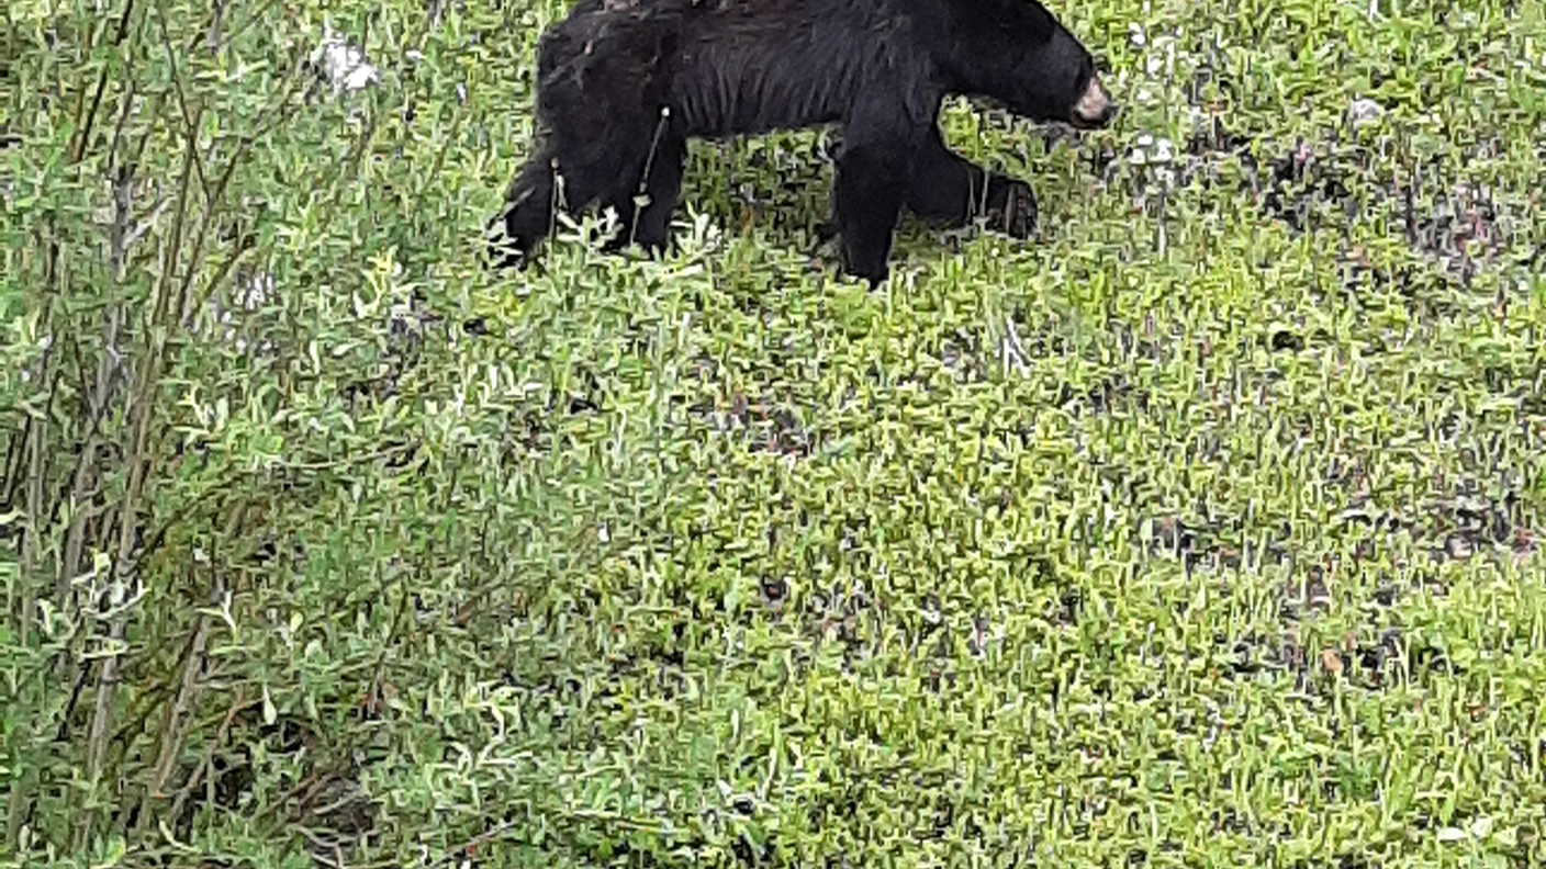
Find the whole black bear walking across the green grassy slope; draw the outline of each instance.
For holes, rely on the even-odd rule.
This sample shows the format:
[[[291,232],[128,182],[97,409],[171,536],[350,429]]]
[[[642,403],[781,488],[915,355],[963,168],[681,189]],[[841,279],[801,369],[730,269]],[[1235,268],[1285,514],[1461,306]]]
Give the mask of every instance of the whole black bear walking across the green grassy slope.
[[[870,286],[903,207],[1028,235],[1031,189],[940,138],[946,94],[1079,128],[1115,113],[1090,53],[1036,0],[581,0],[538,40],[540,147],[507,193],[496,261],[524,263],[555,206],[611,207],[611,250],[660,250],[690,138],[822,124],[843,125],[843,266]]]

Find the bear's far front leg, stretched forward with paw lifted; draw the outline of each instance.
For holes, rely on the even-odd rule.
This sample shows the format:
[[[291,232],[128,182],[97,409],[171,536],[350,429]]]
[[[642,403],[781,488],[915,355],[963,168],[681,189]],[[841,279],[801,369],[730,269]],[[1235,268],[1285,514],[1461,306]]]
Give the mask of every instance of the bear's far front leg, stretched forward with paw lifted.
[[[1036,193],[1008,175],[988,172],[945,145],[937,127],[918,148],[908,186],[908,209],[937,224],[960,227],[977,215],[1014,238],[1036,230]]]

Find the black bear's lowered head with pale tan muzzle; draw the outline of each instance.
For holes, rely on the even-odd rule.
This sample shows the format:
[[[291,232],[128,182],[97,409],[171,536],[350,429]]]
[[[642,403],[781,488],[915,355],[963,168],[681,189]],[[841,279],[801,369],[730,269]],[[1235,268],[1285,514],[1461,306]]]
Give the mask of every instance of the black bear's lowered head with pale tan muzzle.
[[[1093,130],[1116,104],[1095,57],[1036,0],[955,3],[948,70],[963,93],[986,97],[1031,121]]]

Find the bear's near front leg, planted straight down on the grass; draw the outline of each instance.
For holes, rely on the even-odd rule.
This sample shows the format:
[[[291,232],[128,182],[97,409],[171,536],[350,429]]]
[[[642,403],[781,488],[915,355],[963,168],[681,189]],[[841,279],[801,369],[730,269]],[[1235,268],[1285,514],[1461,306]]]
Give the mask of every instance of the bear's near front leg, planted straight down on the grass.
[[[850,119],[843,133],[833,204],[843,268],[873,289],[890,274],[890,243],[908,187],[901,179],[912,170],[926,128],[908,122],[900,108],[890,118],[884,111],[866,114]]]

